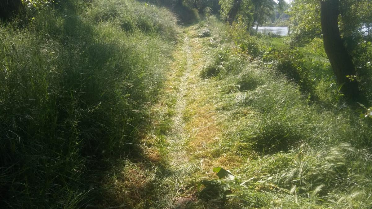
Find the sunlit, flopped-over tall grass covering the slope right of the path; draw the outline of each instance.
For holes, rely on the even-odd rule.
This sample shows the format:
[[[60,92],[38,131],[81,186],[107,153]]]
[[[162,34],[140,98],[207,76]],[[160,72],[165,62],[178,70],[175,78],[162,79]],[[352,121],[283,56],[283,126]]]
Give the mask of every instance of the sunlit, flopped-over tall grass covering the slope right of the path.
[[[207,146],[208,153],[239,156],[247,163],[231,169],[232,177],[202,181],[202,204],[225,208],[370,208],[371,120],[360,119],[354,107],[342,99],[312,102],[303,89],[310,84],[289,76],[293,75],[291,70],[301,70],[296,64],[310,63],[307,57],[298,61],[291,52],[280,60],[265,60],[266,51],[257,56],[256,50],[243,49],[240,44],[258,44],[253,49],[264,50],[266,46],[254,42],[256,38],[226,29],[215,18],[205,24],[212,30],[211,38],[221,40],[214,45],[230,51],[222,61],[208,53],[211,59],[235,63],[229,68],[232,70],[223,76],[217,71],[208,81],[216,87],[211,90],[211,103],[226,115],[219,122],[224,130],[221,139]],[[234,45],[219,35],[229,34],[229,30],[234,30],[230,32]],[[217,50],[208,47],[206,51]],[[244,61],[233,62],[235,59]],[[328,70],[320,66],[304,73],[317,77],[318,71],[327,74]]]

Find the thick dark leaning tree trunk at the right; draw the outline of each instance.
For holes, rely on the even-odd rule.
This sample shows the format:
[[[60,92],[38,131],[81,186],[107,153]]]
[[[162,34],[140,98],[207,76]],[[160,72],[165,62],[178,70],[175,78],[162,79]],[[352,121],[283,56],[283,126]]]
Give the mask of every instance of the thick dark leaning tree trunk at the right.
[[[346,97],[356,99],[359,96],[359,89],[356,79],[353,78],[356,75],[355,66],[341,39],[338,25],[339,14],[339,0],[320,1],[320,17],[325,52],[331,63],[337,83],[342,85],[341,92]]]

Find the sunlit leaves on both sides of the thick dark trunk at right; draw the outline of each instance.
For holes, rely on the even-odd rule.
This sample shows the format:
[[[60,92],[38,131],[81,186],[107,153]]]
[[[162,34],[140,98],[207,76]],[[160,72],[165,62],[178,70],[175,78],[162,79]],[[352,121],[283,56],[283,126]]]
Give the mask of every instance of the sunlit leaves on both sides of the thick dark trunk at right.
[[[368,52],[370,47],[368,45],[371,45],[371,40],[368,35],[362,34],[362,30],[366,30],[363,27],[368,28],[372,23],[371,8],[372,4],[369,0],[340,1],[339,8],[337,8],[340,13],[340,35],[356,66],[358,75],[355,78],[363,94],[370,101],[371,85],[366,80],[370,78],[369,72],[371,68],[366,65],[369,62],[366,57],[370,57]],[[291,27],[291,45],[304,46],[312,42],[314,38],[321,38],[320,1],[295,0],[292,3],[290,14],[294,23]],[[318,48],[323,47],[319,44]],[[321,56],[325,57],[324,54]]]

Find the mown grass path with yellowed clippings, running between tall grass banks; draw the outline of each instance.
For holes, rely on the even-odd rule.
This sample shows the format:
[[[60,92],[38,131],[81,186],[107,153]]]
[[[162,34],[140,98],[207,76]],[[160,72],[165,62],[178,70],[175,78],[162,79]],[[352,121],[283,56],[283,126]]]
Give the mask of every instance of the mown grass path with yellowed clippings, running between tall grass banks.
[[[198,25],[184,29],[182,46],[173,55],[173,71],[153,108],[153,126],[145,139],[147,157],[168,169],[158,176],[156,190],[167,192],[157,208],[203,207],[197,197],[198,183],[215,175],[212,164],[217,162],[211,162],[206,146],[218,139],[221,130],[217,111],[210,104],[213,89],[200,77],[207,39],[199,38],[196,28]]]

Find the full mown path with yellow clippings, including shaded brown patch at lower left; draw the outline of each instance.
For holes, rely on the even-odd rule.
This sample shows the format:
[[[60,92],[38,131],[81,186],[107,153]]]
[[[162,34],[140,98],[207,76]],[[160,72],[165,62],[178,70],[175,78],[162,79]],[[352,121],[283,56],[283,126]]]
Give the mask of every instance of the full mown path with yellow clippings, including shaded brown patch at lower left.
[[[213,167],[244,164],[235,154],[214,153],[224,138],[221,123],[228,115],[215,103],[221,94],[219,81],[200,76],[210,41],[199,37],[198,29],[199,25],[183,28],[183,41],[172,55],[163,92],[141,131],[145,160],[124,161],[113,182],[122,206],[218,208],[198,197],[199,182],[216,179]]]

